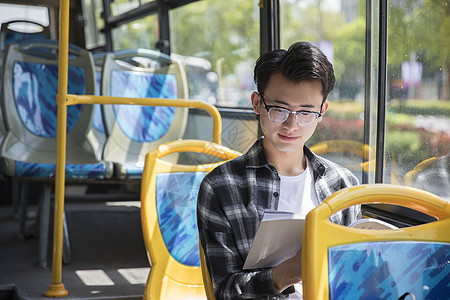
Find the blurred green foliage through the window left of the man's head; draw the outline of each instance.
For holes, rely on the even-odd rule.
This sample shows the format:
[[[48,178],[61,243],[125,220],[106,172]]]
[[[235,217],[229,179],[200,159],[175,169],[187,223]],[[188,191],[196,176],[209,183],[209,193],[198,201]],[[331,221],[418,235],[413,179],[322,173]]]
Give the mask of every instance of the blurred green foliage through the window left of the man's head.
[[[172,50],[182,55],[223,62],[223,72],[259,54],[259,11],[253,1],[195,2],[176,9],[171,18]],[[181,21],[179,21],[181,20]]]

